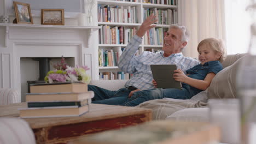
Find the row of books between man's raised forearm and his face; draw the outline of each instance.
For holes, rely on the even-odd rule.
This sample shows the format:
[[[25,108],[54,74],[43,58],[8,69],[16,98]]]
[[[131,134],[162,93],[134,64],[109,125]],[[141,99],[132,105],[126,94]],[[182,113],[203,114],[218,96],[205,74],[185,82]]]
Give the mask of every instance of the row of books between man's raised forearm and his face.
[[[144,44],[146,45],[162,45],[164,37],[168,29],[164,28],[151,28],[144,35]]]

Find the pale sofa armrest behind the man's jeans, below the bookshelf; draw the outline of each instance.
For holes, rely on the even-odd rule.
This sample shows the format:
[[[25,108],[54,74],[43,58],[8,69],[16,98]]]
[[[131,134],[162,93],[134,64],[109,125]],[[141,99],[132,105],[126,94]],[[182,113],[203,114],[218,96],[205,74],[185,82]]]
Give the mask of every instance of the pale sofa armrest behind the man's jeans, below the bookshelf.
[[[89,85],[95,85],[110,91],[117,91],[123,88],[127,80],[91,80]]]

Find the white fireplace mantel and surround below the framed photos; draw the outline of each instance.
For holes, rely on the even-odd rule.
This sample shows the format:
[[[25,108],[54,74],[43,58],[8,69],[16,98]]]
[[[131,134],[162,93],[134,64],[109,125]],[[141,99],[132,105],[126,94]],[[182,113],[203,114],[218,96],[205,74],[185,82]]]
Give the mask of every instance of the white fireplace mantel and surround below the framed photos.
[[[22,57],[74,57],[75,65],[88,65],[92,79],[97,77],[95,31],[100,27],[0,23],[0,28],[5,34],[4,47],[0,46],[0,87],[21,91]]]

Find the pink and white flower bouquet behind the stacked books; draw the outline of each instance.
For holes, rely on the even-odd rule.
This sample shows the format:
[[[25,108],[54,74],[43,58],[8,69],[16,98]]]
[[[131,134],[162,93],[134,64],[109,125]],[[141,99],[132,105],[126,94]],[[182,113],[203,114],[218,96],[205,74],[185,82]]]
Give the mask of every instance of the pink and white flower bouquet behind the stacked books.
[[[90,75],[86,74],[86,70],[89,70],[87,66],[69,67],[63,57],[61,62],[54,64],[53,67],[55,70],[48,71],[44,77],[46,83],[74,81],[89,83],[91,81]]]

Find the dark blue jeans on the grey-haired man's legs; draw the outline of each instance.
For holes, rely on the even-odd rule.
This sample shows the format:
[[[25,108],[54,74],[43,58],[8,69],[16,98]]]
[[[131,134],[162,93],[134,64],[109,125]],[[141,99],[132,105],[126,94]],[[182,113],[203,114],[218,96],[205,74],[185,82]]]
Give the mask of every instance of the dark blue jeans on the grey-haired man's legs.
[[[118,91],[109,91],[94,85],[88,85],[88,91],[94,91],[93,104],[121,105],[128,99],[131,92],[127,88],[121,88]]]

